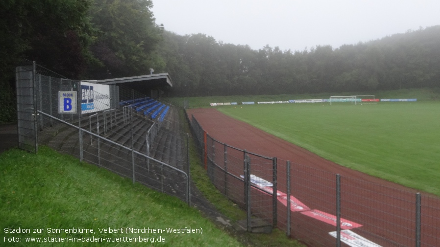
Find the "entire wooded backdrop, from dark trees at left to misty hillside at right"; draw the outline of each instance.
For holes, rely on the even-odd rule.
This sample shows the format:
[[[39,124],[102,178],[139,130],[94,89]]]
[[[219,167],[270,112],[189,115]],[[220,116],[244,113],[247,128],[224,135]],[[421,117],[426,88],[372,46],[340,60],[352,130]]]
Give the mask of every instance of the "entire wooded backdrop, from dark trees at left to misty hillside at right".
[[[440,25],[341,47],[254,50],[167,31],[155,23],[152,4],[0,1],[0,123],[14,120],[14,68],[25,59],[71,79],[145,75],[153,68],[170,74],[171,96],[440,87]]]

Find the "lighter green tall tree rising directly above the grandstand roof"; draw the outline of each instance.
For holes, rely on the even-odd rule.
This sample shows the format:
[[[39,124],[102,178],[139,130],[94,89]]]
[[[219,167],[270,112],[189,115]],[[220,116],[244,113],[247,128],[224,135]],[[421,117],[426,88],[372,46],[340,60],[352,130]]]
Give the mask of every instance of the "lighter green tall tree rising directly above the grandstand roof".
[[[93,67],[92,77],[134,76],[165,67],[156,50],[163,28],[155,24],[151,7],[151,0],[95,0],[90,13],[99,34],[92,51],[102,64]]]

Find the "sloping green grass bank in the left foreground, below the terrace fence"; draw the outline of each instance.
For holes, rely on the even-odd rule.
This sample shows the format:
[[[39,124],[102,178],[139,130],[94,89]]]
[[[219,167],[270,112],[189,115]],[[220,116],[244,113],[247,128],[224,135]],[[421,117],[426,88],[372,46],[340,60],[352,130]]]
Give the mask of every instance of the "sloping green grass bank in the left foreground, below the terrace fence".
[[[133,184],[105,169],[60,155],[11,149],[0,155],[0,246],[242,246],[177,198]],[[47,233],[47,228],[90,228],[94,234]],[[100,233],[99,228],[203,229],[202,234]],[[30,229],[8,233],[5,228]],[[33,233],[33,229],[44,229]],[[22,242],[5,242],[4,237]],[[162,237],[151,243],[25,243],[26,237]]]

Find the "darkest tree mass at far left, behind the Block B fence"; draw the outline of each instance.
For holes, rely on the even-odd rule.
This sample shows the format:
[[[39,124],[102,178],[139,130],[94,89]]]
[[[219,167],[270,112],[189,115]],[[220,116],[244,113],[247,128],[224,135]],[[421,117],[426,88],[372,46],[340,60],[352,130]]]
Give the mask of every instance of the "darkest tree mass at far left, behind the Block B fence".
[[[90,0],[0,1],[0,122],[14,118],[14,67],[35,60],[76,79],[92,61]],[[8,113],[4,113],[8,112]],[[5,120],[6,119],[6,120]]]

